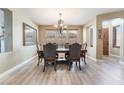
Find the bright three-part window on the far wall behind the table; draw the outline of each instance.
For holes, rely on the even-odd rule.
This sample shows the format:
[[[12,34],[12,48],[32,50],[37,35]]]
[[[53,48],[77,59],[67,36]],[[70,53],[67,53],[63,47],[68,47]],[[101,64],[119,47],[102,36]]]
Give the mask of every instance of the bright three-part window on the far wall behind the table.
[[[63,47],[65,43],[78,42],[78,30],[64,30],[62,35],[55,30],[46,30],[45,34],[46,43],[57,43],[58,47]]]

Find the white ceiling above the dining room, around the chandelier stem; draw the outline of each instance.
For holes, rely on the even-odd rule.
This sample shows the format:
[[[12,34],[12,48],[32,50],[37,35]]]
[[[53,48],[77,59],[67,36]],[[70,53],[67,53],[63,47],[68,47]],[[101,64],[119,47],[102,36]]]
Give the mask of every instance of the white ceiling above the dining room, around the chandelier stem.
[[[98,14],[122,10],[120,8],[23,8],[29,18],[38,25],[57,24],[59,12],[64,24],[83,25]]]

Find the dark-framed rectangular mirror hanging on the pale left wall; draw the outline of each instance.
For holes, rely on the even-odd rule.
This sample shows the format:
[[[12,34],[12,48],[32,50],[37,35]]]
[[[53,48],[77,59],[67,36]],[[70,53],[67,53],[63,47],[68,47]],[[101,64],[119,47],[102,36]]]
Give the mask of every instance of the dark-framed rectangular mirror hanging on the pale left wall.
[[[23,23],[23,45],[29,46],[37,43],[37,30]]]

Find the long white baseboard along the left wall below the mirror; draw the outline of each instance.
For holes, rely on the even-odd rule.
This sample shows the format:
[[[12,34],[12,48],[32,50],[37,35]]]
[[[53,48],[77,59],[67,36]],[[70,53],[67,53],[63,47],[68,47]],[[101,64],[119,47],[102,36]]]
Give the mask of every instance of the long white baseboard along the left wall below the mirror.
[[[21,62],[21,64],[18,64],[18,65],[16,65],[15,67],[13,67],[13,68],[11,68],[11,69],[9,69],[9,70],[3,72],[2,74],[0,74],[0,79],[6,77],[7,75],[11,74],[12,72],[18,70],[18,69],[21,68],[22,66],[24,66],[24,65],[26,65],[27,63],[31,62],[31,61],[32,61],[34,58],[36,58],[36,57],[37,57],[37,55],[36,55],[36,56],[33,56],[32,58],[30,58],[30,59],[28,59],[28,60],[26,60],[26,61],[24,61],[24,62]]]

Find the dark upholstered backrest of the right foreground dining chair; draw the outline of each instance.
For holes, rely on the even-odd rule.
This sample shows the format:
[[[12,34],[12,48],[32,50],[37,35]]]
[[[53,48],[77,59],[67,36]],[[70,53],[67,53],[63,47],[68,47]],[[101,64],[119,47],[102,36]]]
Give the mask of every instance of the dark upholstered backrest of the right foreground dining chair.
[[[69,46],[69,58],[70,59],[80,59],[81,56],[81,45],[74,43]]]

